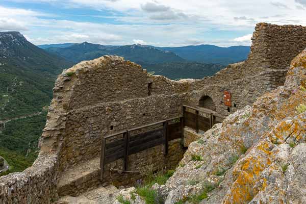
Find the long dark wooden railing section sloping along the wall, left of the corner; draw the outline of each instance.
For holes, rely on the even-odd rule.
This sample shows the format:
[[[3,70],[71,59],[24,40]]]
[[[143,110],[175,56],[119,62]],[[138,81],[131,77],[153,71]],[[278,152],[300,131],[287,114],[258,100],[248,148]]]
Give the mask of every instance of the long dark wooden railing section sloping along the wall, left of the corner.
[[[141,131],[149,129],[152,126],[163,124],[149,131]],[[184,136],[183,116],[169,118],[147,125],[135,127],[126,131],[121,131],[102,140],[101,158],[100,158],[100,180],[103,180],[105,165],[118,159],[123,159],[122,170],[127,169],[127,156],[136,154],[145,149],[164,144],[164,155],[168,154],[168,142]],[[140,132],[132,135],[132,132]]]

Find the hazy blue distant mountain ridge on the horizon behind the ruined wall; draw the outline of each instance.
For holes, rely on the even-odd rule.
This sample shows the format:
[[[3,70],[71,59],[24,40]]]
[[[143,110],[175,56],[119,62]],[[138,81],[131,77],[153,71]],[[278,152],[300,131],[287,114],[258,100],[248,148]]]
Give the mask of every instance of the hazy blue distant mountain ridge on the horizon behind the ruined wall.
[[[75,61],[82,61],[82,60],[89,60],[94,59],[96,56],[101,56],[103,54],[108,55],[119,55],[123,56],[128,60],[138,62],[138,63],[168,63],[168,62],[183,62],[189,61],[189,62],[201,62],[206,64],[221,64],[221,65],[227,65],[227,64],[233,64],[237,62],[241,62],[247,59],[247,56],[250,52],[249,46],[231,46],[231,47],[218,47],[215,45],[190,45],[190,46],[183,46],[183,47],[155,47],[150,45],[99,45],[99,44],[92,44],[88,42],[87,45],[90,46],[87,47],[86,52],[84,52],[83,57],[78,57],[80,53],[75,55],[74,57],[77,57],[79,60]],[[81,44],[84,44],[81,43]],[[68,46],[69,43],[65,44],[50,44],[47,45],[46,50],[48,52],[55,52],[58,55],[73,61],[73,51],[72,49],[77,48],[80,44],[72,43],[71,46]],[[39,45],[42,48],[45,45]],[[169,53],[167,57],[170,57],[169,60],[152,60],[151,58],[154,58],[156,56],[163,56],[163,55],[144,55],[139,59],[139,53],[135,53],[134,56],[131,56],[132,54],[129,53],[132,50],[133,46],[138,46],[137,48],[142,47],[142,50],[139,50],[139,52],[142,52],[141,55],[144,55],[144,53],[149,50],[149,48],[155,48],[162,50],[165,53]],[[89,48],[89,49],[88,49]],[[129,50],[130,49],[130,50]],[[145,50],[147,49],[147,50]],[[123,50],[125,50],[123,52]],[[152,54],[152,52],[150,53]],[[172,55],[176,55],[182,59],[174,58]],[[81,60],[82,59],[82,60]]]

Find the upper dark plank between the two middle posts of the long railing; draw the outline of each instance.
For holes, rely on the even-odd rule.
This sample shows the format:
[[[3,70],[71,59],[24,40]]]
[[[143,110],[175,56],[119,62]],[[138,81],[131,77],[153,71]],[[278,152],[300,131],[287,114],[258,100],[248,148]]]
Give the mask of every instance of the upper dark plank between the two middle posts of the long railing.
[[[132,141],[130,140],[130,147],[135,147],[140,144],[149,142],[151,140],[162,138],[162,135],[163,135],[163,129],[156,129],[156,130],[134,135],[133,137],[135,137],[136,139],[134,138],[134,140]]]

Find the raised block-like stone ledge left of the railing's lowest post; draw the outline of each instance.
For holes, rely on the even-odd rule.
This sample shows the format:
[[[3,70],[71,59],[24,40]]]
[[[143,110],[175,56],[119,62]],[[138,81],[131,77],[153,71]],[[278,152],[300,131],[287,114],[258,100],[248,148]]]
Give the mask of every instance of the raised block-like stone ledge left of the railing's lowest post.
[[[94,158],[62,172],[58,184],[59,196],[78,196],[97,188],[99,182],[100,158]]]

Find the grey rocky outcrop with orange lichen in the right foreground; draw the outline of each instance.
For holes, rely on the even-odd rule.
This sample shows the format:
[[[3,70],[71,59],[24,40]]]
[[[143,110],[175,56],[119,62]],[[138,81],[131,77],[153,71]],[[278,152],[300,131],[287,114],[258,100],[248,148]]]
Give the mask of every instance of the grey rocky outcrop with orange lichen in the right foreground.
[[[213,126],[190,144],[166,185],[165,203],[306,202],[306,49],[284,86]]]

